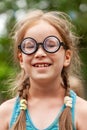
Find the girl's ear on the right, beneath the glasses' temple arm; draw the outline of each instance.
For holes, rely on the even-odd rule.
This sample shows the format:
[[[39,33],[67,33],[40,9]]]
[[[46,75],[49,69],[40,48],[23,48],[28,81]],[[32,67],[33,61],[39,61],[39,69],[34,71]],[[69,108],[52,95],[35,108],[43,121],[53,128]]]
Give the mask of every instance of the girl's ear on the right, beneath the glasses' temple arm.
[[[66,50],[65,52],[65,61],[64,61],[64,67],[67,67],[70,65],[72,58],[72,51],[71,50]]]

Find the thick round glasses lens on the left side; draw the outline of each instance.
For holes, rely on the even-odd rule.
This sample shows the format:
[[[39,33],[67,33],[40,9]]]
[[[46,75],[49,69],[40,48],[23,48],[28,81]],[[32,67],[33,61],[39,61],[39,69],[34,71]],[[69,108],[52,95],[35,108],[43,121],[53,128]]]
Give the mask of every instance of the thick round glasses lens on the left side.
[[[36,50],[36,42],[34,39],[27,38],[21,44],[21,49],[26,54],[32,54]]]

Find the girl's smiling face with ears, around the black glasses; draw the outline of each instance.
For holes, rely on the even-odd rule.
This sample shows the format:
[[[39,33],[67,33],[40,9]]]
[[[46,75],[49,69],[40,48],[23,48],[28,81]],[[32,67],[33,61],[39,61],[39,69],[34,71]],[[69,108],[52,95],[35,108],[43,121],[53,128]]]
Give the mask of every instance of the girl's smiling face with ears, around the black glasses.
[[[24,38],[34,38],[38,43],[42,43],[47,36],[56,36],[63,41],[58,31],[49,23],[39,21],[34,26],[29,27]],[[59,79],[63,67],[70,64],[71,51],[65,51],[61,46],[55,53],[48,53],[41,46],[31,55],[22,52],[18,54],[20,66],[25,70],[29,78],[33,81],[50,81]]]

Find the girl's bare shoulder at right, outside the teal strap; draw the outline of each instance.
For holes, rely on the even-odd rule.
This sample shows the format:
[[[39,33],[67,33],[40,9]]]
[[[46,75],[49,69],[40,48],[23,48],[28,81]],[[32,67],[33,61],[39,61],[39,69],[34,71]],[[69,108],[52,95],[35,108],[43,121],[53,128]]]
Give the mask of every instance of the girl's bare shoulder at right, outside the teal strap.
[[[76,101],[76,122],[77,130],[87,128],[87,101],[77,96]]]

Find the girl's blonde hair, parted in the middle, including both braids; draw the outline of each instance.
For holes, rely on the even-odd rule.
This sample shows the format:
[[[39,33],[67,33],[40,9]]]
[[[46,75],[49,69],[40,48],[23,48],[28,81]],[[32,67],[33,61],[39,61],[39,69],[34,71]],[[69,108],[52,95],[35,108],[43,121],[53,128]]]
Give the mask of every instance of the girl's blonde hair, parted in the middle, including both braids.
[[[43,20],[51,24],[57,29],[61,35],[63,42],[67,45],[68,49],[73,52],[71,64],[68,68],[63,68],[61,72],[64,88],[66,89],[66,95],[70,96],[70,85],[68,77],[71,74],[79,75],[80,72],[80,58],[78,55],[77,45],[79,38],[74,34],[74,26],[71,24],[70,18],[63,12],[50,11],[43,12],[41,10],[35,10],[27,14],[27,16],[16,24],[14,33],[14,55],[15,59],[18,60],[18,45],[23,40],[24,35],[28,27],[33,26],[36,22]],[[23,71],[23,70],[22,70]],[[25,72],[21,72],[15,80],[20,99],[26,99],[29,94],[29,78]],[[25,111],[21,110],[17,121],[11,128],[11,130],[26,130],[25,125]],[[73,130],[72,117],[70,107],[66,107],[59,118],[59,130]]]

